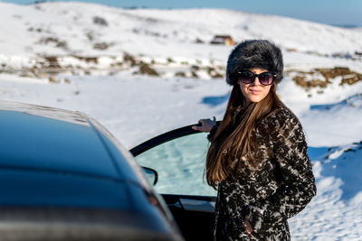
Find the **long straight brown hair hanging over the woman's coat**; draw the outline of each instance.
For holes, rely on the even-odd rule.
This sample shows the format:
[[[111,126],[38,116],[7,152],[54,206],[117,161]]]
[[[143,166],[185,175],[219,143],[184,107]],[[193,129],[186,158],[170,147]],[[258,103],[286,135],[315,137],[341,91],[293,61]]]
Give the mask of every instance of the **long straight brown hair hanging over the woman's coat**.
[[[246,104],[240,86],[233,85],[224,119],[214,134],[206,157],[206,180],[214,189],[218,182],[233,176],[241,166],[257,166],[257,160],[251,155],[252,130],[263,117],[283,105],[276,88],[277,83],[273,83],[268,95],[260,102]],[[243,156],[246,158],[241,160]]]

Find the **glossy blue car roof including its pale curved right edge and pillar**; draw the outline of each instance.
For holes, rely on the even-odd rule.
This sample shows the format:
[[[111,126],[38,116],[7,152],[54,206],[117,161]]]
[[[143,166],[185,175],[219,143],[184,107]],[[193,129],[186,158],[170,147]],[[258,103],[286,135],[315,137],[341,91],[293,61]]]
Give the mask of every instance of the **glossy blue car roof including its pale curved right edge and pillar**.
[[[133,156],[90,116],[0,101],[0,169],[128,181],[151,190]]]

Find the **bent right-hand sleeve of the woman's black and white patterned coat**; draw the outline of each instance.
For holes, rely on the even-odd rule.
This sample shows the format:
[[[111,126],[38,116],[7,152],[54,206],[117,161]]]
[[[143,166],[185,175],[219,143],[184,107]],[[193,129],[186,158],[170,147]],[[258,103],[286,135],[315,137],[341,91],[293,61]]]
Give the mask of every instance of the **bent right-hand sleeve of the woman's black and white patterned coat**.
[[[270,197],[244,207],[243,217],[250,218],[255,232],[262,229],[264,222],[282,223],[296,215],[317,192],[307,144],[298,118],[287,112],[280,122],[276,118],[274,125],[271,143],[281,184]]]

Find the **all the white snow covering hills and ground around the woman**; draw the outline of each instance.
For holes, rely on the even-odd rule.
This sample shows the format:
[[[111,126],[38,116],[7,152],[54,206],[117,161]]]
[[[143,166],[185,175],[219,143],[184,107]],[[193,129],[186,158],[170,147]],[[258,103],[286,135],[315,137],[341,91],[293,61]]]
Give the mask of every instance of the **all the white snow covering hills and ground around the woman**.
[[[307,209],[291,218],[292,238],[361,240],[362,81],[340,85],[342,77],[337,77],[330,79],[327,88],[306,89],[292,80],[293,70],[348,67],[361,73],[361,59],[331,56],[362,51],[361,31],[223,9],[129,10],[81,3],[0,2],[0,14],[4,19],[0,22],[1,99],[82,111],[127,148],[199,118],[223,117],[231,87],[224,78],[212,78],[207,68],[224,74],[233,47],[208,44],[214,35],[276,42],[289,70],[278,94],[304,127],[318,188]],[[95,24],[95,16],[108,25]],[[41,43],[46,38],[53,41]],[[195,43],[197,38],[205,43]],[[66,42],[65,47],[57,47],[60,42]],[[110,47],[95,49],[100,42]],[[152,67],[160,76],[134,74],[138,65],[117,67],[125,53],[137,61],[154,62]],[[44,55],[57,56],[63,70],[54,76],[24,74],[34,66],[34,72],[42,70]],[[80,57],[97,57],[97,62]],[[198,78],[192,77],[195,66],[200,69]],[[180,71],[186,78],[176,77]],[[202,163],[194,164],[187,164],[188,168],[202,170]],[[185,190],[192,185],[186,182]]]

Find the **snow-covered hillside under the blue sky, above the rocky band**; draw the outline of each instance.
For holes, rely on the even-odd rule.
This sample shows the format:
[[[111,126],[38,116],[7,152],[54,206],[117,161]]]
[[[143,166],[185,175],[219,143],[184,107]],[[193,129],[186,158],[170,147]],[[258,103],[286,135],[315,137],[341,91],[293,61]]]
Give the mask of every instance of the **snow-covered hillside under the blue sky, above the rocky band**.
[[[236,42],[270,39],[295,51],[362,51],[362,32],[224,9],[131,10],[75,2],[0,2],[0,14],[0,52],[11,55],[117,55],[128,51],[190,58],[195,57],[193,51],[205,49],[203,44],[195,44],[196,40],[208,43],[217,34],[230,35]]]

